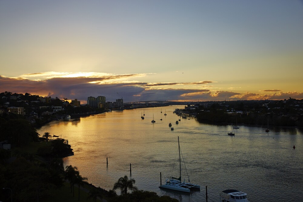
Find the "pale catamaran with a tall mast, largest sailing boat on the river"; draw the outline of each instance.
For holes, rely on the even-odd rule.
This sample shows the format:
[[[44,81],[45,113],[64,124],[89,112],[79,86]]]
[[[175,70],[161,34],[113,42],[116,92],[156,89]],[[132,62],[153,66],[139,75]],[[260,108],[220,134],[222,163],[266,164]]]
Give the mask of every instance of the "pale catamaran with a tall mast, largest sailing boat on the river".
[[[179,136],[178,136],[178,147],[179,147],[179,165],[180,165],[180,177],[179,178],[174,178],[171,177],[171,179],[166,179],[165,184],[161,184],[159,188],[165,188],[165,189],[171,189],[171,190],[176,190],[176,191],[183,191],[183,192],[190,192],[192,188],[200,189],[200,185],[198,184],[191,184],[188,174],[188,183],[185,182],[185,179],[183,182],[181,182],[181,155],[180,155],[180,142],[179,142]],[[183,156],[182,156],[183,158]],[[184,159],[183,159],[184,162]],[[185,164],[184,164],[185,165]],[[186,169],[186,166],[185,166]],[[186,170],[187,173],[187,170]]]

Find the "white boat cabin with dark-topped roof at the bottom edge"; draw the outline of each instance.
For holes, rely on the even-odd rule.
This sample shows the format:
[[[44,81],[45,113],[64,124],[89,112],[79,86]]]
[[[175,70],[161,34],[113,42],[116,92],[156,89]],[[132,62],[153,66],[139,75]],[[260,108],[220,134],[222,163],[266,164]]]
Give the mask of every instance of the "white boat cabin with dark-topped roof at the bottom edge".
[[[235,189],[227,189],[220,194],[220,202],[249,202],[247,194]]]

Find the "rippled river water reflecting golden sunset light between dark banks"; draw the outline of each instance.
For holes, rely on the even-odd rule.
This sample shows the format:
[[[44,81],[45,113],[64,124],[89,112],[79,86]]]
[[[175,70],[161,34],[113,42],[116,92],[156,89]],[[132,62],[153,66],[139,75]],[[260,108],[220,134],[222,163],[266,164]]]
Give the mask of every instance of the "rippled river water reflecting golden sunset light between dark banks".
[[[133,109],[52,121],[38,132],[68,139],[75,155],[64,158],[65,165],[77,166],[89,183],[106,190],[118,178],[130,175],[131,163],[139,189],[182,202],[206,201],[206,185],[208,201],[218,201],[225,189],[244,191],[251,201],[303,201],[302,131],[288,128],[265,133],[265,128],[240,126],[232,137],[227,135],[231,126],[182,118],[175,124],[179,119],[172,113],[175,108],[184,106],[145,108],[144,120],[143,109]],[[178,136],[190,180],[200,184],[201,191],[181,194],[158,188],[160,172],[162,182],[171,175],[178,177]],[[187,181],[185,168],[183,178]]]

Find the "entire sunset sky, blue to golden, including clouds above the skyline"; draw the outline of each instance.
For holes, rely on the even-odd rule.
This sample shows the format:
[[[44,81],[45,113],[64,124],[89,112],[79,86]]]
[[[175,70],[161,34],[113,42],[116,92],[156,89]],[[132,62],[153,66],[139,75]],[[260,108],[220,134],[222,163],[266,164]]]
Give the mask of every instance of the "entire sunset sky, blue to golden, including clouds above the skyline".
[[[0,91],[303,99],[303,1],[0,0]]]

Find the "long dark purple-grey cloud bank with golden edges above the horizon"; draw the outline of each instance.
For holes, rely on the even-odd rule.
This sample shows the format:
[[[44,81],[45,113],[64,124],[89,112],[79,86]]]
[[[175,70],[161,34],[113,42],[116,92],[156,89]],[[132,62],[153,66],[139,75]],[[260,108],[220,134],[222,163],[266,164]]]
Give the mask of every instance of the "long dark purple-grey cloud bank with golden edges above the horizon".
[[[106,81],[111,78],[51,78],[43,81],[32,81],[24,78],[8,78],[0,76],[0,91],[10,91],[16,93],[31,93],[37,95],[48,95],[52,97],[78,99],[86,101],[89,96],[105,96],[107,101],[115,101],[123,97],[125,102],[130,101],[151,101],[151,100],[170,100],[170,101],[220,101],[225,99],[244,100],[244,99],[302,99],[303,93],[297,92],[279,92],[280,90],[263,90],[265,92],[273,92],[274,94],[254,94],[246,92],[244,94],[231,91],[213,91],[207,89],[152,89],[151,86],[168,85],[170,83],[88,83],[95,81]],[[192,83],[179,84],[205,84],[213,81],[200,81]],[[174,83],[173,85],[176,85]],[[118,94],[117,94],[118,92]]]

